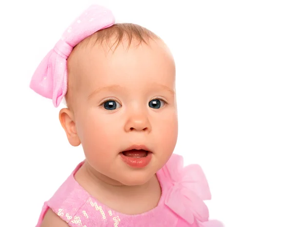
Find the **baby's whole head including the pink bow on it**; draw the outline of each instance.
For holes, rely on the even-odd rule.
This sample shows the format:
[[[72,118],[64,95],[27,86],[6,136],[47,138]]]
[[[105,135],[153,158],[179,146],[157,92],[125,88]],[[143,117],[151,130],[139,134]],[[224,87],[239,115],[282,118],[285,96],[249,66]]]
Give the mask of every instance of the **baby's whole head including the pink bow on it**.
[[[85,170],[114,185],[142,185],[172,154],[178,133],[175,64],[166,44],[91,5],[36,69],[30,87],[57,107]]]

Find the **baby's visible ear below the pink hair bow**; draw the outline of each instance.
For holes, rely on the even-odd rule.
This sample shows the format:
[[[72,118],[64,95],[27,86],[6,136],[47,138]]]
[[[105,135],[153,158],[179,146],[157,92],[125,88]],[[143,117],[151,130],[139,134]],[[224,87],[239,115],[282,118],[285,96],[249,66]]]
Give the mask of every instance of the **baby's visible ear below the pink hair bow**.
[[[59,120],[64,131],[66,132],[69,143],[74,147],[79,146],[81,141],[77,134],[72,112],[67,108],[61,109],[59,113]]]

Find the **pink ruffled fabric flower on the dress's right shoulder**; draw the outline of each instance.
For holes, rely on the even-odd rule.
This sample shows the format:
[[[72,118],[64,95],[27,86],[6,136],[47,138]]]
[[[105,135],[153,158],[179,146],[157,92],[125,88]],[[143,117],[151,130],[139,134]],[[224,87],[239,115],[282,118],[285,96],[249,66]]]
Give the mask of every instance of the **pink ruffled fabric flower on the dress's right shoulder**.
[[[166,164],[167,177],[173,182],[165,204],[189,224],[207,222],[209,209],[203,200],[211,199],[208,181],[199,165],[183,167],[183,157],[172,155]]]

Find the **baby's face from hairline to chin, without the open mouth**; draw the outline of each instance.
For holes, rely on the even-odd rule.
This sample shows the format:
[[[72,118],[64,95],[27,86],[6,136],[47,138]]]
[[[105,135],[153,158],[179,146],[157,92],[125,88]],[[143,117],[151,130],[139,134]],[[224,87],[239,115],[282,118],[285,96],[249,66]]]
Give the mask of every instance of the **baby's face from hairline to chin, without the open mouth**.
[[[78,77],[72,96],[74,123],[89,165],[124,185],[146,183],[172,154],[178,133],[175,65],[165,44],[121,43],[114,54],[95,45],[70,57]],[[70,89],[70,88],[69,88]],[[122,151],[145,145],[145,167],[129,166]]]

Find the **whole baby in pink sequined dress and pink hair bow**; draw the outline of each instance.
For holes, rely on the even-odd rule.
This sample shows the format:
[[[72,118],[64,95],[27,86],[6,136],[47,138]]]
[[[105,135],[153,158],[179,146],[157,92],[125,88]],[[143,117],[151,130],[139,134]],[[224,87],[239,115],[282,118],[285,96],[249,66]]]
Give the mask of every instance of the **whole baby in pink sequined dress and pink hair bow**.
[[[198,165],[172,154],[178,132],[175,64],[166,44],[92,5],[42,60],[30,87],[65,98],[59,119],[77,165],[44,203],[37,227],[222,227],[209,220]]]

